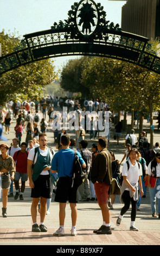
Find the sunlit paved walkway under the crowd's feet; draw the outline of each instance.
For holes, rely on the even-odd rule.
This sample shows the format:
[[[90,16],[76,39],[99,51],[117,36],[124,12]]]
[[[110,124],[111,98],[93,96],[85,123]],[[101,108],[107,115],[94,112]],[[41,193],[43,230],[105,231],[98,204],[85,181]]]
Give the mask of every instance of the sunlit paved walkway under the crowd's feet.
[[[128,117],[128,122],[130,117]],[[11,139],[15,137],[14,132],[15,120],[11,125],[11,132],[6,135],[9,138],[8,145],[11,143]],[[135,127],[136,128],[136,127]],[[149,129],[149,124],[144,121],[144,130]],[[112,129],[113,130],[113,129]],[[138,135],[138,130],[136,130]],[[49,145],[55,149],[53,144],[53,132],[48,130]],[[124,139],[126,133],[120,141],[120,145],[117,145],[116,141],[113,141],[113,131],[111,132],[111,139],[108,144],[108,149],[113,150],[116,154],[116,159],[121,160],[124,155]],[[71,136],[74,136],[71,133]],[[149,137],[149,134],[148,134]],[[89,135],[86,136],[89,138]],[[25,141],[25,133],[22,138],[22,142]],[[155,131],[154,143],[159,141],[159,132]],[[88,148],[91,149],[89,141]],[[56,149],[55,149],[56,151]],[[2,203],[1,203],[2,205]],[[78,236],[72,237],[71,230],[71,210],[69,204],[66,207],[66,220],[65,220],[65,232],[66,236],[55,237],[53,233],[59,228],[59,204],[54,202],[54,194],[52,203],[50,205],[50,215],[46,215],[44,224],[48,228],[47,233],[32,233],[31,232],[31,214],[30,214],[31,198],[30,187],[27,182],[27,186],[24,192],[24,200],[14,200],[14,198],[8,199],[7,206],[7,218],[3,218],[0,215],[0,245],[57,245],[57,246],[72,246],[89,245],[94,247],[95,245],[159,245],[160,244],[160,219],[151,217],[151,206],[149,199],[149,192],[146,193],[146,198],[142,198],[142,204],[140,205],[140,211],[137,211],[136,227],[139,231],[130,231],[130,214],[129,210],[123,218],[120,226],[117,227],[116,221],[119,215],[122,204],[119,202],[119,196],[116,197],[114,203],[114,210],[110,210],[111,215],[111,227],[112,235],[96,235],[93,233],[94,229],[97,229],[102,224],[101,211],[97,202],[79,202],[78,208],[78,221],[76,224],[76,230]],[[38,213],[37,220],[40,222],[40,215]]]

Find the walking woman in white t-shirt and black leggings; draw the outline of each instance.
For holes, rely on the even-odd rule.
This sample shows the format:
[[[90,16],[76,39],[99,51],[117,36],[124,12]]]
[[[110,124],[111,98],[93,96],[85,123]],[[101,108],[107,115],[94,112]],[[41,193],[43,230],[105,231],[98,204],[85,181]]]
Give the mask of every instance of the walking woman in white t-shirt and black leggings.
[[[136,211],[137,211],[137,201],[139,197],[138,182],[140,186],[140,196],[143,196],[143,187],[142,187],[142,166],[137,162],[138,150],[132,148],[129,152],[130,160],[124,163],[122,169],[123,175],[123,184],[121,185],[121,194],[120,202],[124,203],[124,207],[120,211],[120,215],[117,219],[117,225],[120,225],[120,222],[127,210],[130,208],[130,202],[132,204],[131,210],[131,224],[130,230],[138,231],[138,228],[135,227],[136,220]]]

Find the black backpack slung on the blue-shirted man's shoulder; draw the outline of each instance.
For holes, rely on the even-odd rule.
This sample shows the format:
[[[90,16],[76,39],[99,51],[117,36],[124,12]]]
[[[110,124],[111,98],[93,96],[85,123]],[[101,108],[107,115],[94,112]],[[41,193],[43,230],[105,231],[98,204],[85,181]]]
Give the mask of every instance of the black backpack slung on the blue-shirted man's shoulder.
[[[72,183],[72,187],[73,184],[75,184],[75,186],[79,187],[84,180],[86,179],[87,173],[86,173],[86,169],[83,169],[81,166],[81,163],[79,161],[79,156],[76,154],[76,150],[74,150],[74,162],[73,162],[73,183]]]

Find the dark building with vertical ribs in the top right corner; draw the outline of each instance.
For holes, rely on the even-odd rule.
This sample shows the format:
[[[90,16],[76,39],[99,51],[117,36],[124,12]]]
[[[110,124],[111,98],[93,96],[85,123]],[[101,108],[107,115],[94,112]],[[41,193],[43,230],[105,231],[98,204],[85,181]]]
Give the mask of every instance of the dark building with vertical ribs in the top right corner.
[[[160,0],[127,0],[121,10],[123,31],[155,40],[160,38]]]

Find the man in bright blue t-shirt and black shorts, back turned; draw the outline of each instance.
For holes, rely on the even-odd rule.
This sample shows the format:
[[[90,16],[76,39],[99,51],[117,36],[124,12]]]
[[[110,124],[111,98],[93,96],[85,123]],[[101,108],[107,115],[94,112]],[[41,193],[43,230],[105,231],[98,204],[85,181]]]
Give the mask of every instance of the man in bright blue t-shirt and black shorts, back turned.
[[[76,191],[78,187],[73,182],[73,162],[74,162],[74,150],[69,148],[71,144],[69,135],[65,134],[61,136],[62,149],[58,151],[52,161],[51,171],[52,173],[57,173],[59,180],[57,181],[57,189],[55,194],[55,202],[59,202],[59,221],[60,228],[56,230],[53,235],[64,236],[65,235],[65,209],[67,200],[71,207],[71,217],[72,217],[72,228],[71,235],[76,236]],[[79,156],[79,161],[82,168],[86,167],[85,161],[82,159],[81,154],[76,151]],[[73,182],[73,187],[72,187]]]

